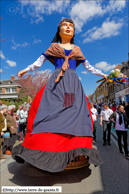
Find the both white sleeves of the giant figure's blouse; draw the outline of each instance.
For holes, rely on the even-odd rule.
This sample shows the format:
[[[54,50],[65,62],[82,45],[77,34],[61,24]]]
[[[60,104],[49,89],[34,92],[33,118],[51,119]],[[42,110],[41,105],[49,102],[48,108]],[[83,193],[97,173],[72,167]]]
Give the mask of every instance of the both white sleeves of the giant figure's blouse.
[[[41,55],[32,65],[29,65],[25,70],[27,72],[34,71],[35,69],[41,67],[46,60],[47,58],[44,55]],[[103,73],[100,70],[95,69],[93,66],[91,66],[87,60],[85,60],[82,64],[91,73],[103,77]]]

